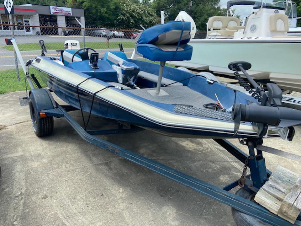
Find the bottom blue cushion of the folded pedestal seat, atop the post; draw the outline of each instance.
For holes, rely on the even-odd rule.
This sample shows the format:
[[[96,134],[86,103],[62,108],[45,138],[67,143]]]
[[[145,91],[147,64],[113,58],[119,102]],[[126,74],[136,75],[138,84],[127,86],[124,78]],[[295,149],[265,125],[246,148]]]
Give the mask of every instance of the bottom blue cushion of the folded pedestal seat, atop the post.
[[[191,60],[192,46],[184,44],[177,46],[138,44],[137,51],[151,61],[183,61]]]

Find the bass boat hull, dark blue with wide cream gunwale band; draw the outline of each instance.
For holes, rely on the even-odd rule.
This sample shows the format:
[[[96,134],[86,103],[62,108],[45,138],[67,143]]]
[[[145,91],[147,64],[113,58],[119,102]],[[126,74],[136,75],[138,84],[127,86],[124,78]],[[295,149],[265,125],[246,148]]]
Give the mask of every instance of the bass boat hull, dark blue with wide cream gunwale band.
[[[99,79],[88,79],[91,77],[61,66],[48,58],[39,58],[32,62],[31,66],[37,69],[42,80],[60,99],[77,109],[80,108],[79,95],[82,110],[90,112],[94,94],[95,98],[92,105],[92,114],[94,115],[123,121],[172,137],[258,137],[256,129],[251,123],[243,122],[240,123],[239,132],[234,135],[234,122],[227,119],[227,117],[229,118],[229,113],[224,113],[227,116],[220,116],[222,113],[216,111],[210,112],[210,116],[179,113],[176,111],[176,105],[150,101],[128,91],[113,88],[109,83]],[[140,66],[143,65],[141,64]],[[155,66],[157,65],[153,65],[151,68]],[[167,68],[166,71],[177,73],[178,75],[187,73],[179,72],[175,68]],[[185,76],[189,77],[190,73],[185,74]],[[191,85],[198,89],[201,87],[202,92],[206,95],[217,93],[223,102],[227,99],[228,102],[236,100],[247,103],[250,98],[245,94],[233,92],[219,83],[208,84],[206,79],[202,77],[195,78]],[[212,90],[215,91],[213,92]],[[226,102],[224,103],[226,104]],[[186,105],[178,106],[184,106],[185,108]],[[218,117],[213,116],[214,112],[216,112]],[[268,137],[279,137],[279,135],[269,131]]]

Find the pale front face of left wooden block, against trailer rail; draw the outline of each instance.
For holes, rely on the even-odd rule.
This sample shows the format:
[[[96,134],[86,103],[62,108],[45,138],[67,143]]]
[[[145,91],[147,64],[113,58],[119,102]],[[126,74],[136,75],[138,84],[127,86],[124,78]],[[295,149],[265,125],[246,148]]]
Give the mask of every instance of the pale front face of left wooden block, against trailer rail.
[[[256,196],[254,197],[254,200],[255,202],[267,208],[269,211],[271,211],[274,214],[278,213],[282,203],[280,200],[273,197],[262,188],[259,189]]]

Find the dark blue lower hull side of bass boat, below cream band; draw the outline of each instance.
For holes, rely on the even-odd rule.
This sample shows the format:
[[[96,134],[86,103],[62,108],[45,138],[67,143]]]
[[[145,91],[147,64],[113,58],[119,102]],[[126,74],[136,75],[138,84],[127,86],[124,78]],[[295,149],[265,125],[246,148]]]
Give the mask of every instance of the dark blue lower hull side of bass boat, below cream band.
[[[49,74],[39,71],[40,77],[43,82],[63,101],[69,105],[80,109],[76,87],[70,84],[55,79]],[[90,111],[92,103],[92,95],[79,89],[79,96],[82,104],[82,109],[85,112]],[[133,124],[135,126],[142,127],[153,132],[171,136],[171,137],[182,137],[182,138],[234,138],[233,133],[221,132],[221,131],[201,131],[197,129],[186,129],[180,127],[170,127],[158,125],[155,122],[143,119],[127,110],[121,109],[113,104],[110,104],[104,100],[99,99],[97,96],[94,99],[92,114],[123,121],[126,123]],[[256,136],[255,134],[253,136]],[[252,137],[253,137],[252,136]],[[250,135],[236,136],[236,137],[251,137]],[[236,138],[235,137],[235,138]]]

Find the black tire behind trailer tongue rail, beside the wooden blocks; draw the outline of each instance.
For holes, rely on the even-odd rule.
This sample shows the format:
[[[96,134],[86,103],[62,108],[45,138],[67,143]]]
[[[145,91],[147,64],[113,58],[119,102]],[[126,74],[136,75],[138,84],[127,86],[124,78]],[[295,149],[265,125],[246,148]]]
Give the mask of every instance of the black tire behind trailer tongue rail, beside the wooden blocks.
[[[255,196],[253,193],[249,192],[245,188],[240,188],[238,191],[236,191],[235,195],[251,201],[253,201]],[[232,208],[232,216],[237,226],[271,226],[271,224],[265,223],[255,217],[252,217],[246,213],[242,213],[234,208]]]

